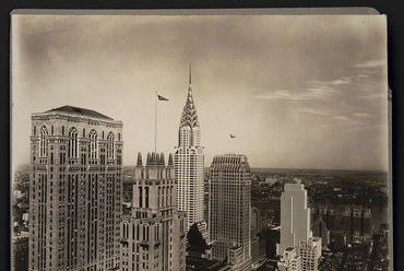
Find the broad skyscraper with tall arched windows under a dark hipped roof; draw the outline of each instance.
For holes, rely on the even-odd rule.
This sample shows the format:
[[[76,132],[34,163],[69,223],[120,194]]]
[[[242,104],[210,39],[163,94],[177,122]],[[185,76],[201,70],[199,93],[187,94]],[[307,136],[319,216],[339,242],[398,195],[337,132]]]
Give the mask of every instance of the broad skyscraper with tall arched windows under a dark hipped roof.
[[[122,122],[63,106],[32,115],[29,270],[119,267]]]

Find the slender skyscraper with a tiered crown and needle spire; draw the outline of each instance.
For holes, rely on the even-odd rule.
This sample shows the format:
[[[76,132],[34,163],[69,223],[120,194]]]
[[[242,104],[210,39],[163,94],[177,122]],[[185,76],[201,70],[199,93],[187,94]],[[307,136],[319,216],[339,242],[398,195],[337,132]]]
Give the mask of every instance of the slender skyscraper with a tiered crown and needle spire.
[[[206,238],[206,223],[203,217],[204,155],[197,108],[192,97],[191,70],[176,149],[175,175],[178,182],[178,209],[187,212],[187,231],[197,223],[200,232]]]

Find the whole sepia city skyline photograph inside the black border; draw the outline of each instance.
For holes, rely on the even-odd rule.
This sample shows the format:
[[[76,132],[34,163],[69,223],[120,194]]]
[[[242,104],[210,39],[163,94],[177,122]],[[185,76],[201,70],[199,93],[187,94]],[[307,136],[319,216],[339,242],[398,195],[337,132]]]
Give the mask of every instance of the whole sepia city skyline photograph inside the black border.
[[[14,271],[392,270],[387,17],[11,15]]]

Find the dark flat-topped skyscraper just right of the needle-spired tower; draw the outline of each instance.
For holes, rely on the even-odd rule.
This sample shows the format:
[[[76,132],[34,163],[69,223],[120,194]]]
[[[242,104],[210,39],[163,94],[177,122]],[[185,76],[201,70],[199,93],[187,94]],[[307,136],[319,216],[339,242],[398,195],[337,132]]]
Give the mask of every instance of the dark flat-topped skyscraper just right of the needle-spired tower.
[[[215,156],[211,165],[209,231],[212,257],[251,269],[251,175],[246,155]]]

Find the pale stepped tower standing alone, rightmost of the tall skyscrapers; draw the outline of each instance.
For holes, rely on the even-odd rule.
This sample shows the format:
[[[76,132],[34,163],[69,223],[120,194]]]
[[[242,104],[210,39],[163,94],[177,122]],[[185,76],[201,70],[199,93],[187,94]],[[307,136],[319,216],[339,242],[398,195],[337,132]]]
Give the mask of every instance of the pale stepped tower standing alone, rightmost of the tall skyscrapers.
[[[307,207],[307,190],[301,184],[286,184],[281,196],[281,243],[277,249],[296,247],[310,237],[310,209]]]

